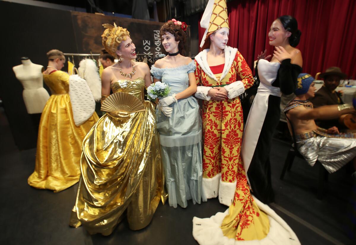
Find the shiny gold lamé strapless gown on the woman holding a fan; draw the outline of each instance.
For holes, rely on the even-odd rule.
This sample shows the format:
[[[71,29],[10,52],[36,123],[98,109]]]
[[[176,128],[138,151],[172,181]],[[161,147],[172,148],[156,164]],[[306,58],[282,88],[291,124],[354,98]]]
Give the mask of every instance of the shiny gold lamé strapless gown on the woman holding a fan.
[[[130,228],[142,229],[159,200],[167,199],[155,106],[144,100],[144,88],[143,78],[111,84],[114,93],[140,99],[145,111],[122,121],[106,113],[85,136],[71,226],[81,223],[90,234],[109,235],[127,208]]]

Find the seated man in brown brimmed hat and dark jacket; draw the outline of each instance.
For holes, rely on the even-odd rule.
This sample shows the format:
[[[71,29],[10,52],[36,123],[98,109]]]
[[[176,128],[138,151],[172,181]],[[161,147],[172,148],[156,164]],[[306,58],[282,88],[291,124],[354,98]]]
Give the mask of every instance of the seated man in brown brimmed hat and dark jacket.
[[[340,84],[341,79],[346,78],[346,74],[341,72],[339,67],[329,67],[325,72],[319,75],[324,79],[324,85],[315,93],[314,98],[310,98],[310,102],[313,103],[314,108],[321,107],[323,105],[340,105],[342,102],[339,92],[335,89]],[[339,123],[338,119],[332,120],[317,120],[316,124],[320,127],[328,129],[329,127],[336,126],[338,129],[345,129],[346,127]]]

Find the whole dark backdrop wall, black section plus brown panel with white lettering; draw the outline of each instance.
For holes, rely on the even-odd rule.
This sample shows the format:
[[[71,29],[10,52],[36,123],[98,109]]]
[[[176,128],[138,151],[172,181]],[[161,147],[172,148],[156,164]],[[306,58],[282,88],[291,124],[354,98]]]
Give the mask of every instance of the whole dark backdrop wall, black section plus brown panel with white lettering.
[[[38,118],[29,115],[22,99],[22,85],[16,79],[12,67],[21,64],[26,56],[35,64],[47,66],[46,53],[59,49],[64,53],[99,53],[104,23],[113,23],[127,28],[136,44],[138,53],[158,55],[164,51],[158,37],[160,22],[95,15],[48,9],[0,1],[2,23],[4,75],[0,81],[0,98],[12,135],[20,150],[36,147]],[[186,56],[190,56],[190,28],[187,29]],[[63,68],[66,71],[67,67]],[[46,88],[46,86],[44,85]],[[46,88],[48,91],[49,89]]]

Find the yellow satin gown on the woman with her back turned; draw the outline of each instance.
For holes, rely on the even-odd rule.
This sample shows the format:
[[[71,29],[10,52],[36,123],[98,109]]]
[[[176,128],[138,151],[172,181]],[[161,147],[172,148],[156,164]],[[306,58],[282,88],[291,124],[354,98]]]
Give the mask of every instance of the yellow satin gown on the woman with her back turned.
[[[55,71],[43,74],[43,79],[52,95],[41,115],[35,172],[27,181],[35,188],[58,192],[79,181],[82,142],[99,118],[94,112],[86,122],[76,126],[68,94],[69,75]]]

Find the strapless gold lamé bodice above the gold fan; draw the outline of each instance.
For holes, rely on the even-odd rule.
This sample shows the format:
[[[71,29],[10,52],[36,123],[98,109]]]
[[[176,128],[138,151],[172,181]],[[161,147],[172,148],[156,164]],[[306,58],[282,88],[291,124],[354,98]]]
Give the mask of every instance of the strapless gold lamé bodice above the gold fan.
[[[112,92],[125,92],[135,96],[141,101],[145,100],[144,90],[145,90],[145,79],[138,77],[135,80],[117,80],[111,83]]]

